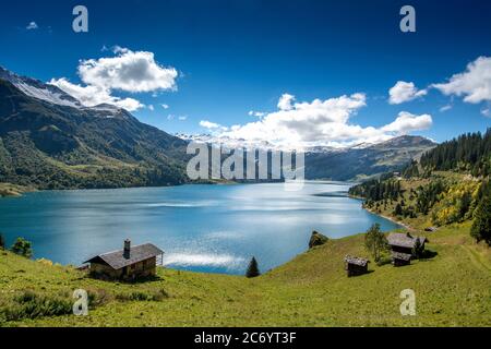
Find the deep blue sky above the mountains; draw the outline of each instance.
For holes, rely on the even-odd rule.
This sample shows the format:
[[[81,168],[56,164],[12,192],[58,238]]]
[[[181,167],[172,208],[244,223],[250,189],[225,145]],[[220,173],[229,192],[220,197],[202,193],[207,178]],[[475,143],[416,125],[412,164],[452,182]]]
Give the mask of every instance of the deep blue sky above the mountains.
[[[88,33],[72,31],[76,4],[88,9]],[[404,4],[416,9],[416,33],[399,31]],[[112,96],[145,105],[133,113],[170,133],[223,133],[227,128],[229,135],[238,130],[242,136],[259,132],[267,139],[274,136],[274,130],[259,128],[288,124],[322,129],[323,124],[315,123],[322,122],[318,119],[330,119],[334,112],[336,122],[324,128],[324,133],[306,131],[300,137],[358,142],[380,136],[385,127],[388,131],[382,132],[384,135],[409,132],[441,142],[491,127],[491,118],[486,116],[490,113],[491,93],[482,93],[482,88],[491,88],[488,61],[464,76],[464,87],[456,81],[428,88],[465,73],[467,64],[479,57],[491,57],[489,13],[489,1],[468,0],[445,4],[388,0],[16,0],[3,4],[0,13],[0,64],[41,81],[64,77],[86,86],[77,74],[80,61],[121,57],[123,53],[111,50],[119,46],[133,53],[153,52],[158,67],[173,68],[178,73],[172,89],[110,91]],[[27,29],[32,22],[35,28]],[[484,73],[475,81],[479,72]],[[391,104],[388,91],[398,81],[414,83],[415,94],[423,93],[412,100]],[[474,96],[479,88],[481,95]],[[291,101],[284,110],[278,108],[285,94],[307,106],[302,109]],[[340,96],[347,96],[346,103],[357,103],[354,94],[363,94],[362,106],[333,109],[327,103],[323,111],[313,107],[315,99],[334,103],[333,98]],[[465,100],[469,96],[470,101]],[[163,104],[169,108],[164,109]],[[304,116],[312,108],[321,113],[319,118]],[[262,122],[250,111],[262,112],[266,119],[271,116],[271,120]],[[386,128],[400,112],[409,115],[409,121],[424,121],[428,119],[415,118],[430,116],[431,125]],[[302,118],[307,123],[300,124]],[[201,121],[216,128],[207,130]],[[248,123],[254,124],[243,128]],[[337,125],[346,130],[342,132]],[[379,131],[368,130],[370,127]],[[336,134],[332,140],[330,132]]]

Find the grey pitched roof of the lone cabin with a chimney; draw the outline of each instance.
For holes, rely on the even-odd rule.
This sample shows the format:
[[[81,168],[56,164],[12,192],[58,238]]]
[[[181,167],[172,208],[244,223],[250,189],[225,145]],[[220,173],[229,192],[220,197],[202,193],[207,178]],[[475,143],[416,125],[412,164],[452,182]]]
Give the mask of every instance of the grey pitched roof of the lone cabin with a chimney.
[[[164,254],[159,248],[152,243],[145,243],[136,246],[132,246],[130,250],[130,257],[125,258],[123,255],[123,250],[118,250],[115,252],[109,252],[105,254],[96,255],[95,257],[84,262],[85,263],[101,263],[107,264],[115,270],[121,269],[125,266],[146,261],[148,258],[156,257],[157,255]]]

